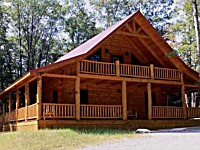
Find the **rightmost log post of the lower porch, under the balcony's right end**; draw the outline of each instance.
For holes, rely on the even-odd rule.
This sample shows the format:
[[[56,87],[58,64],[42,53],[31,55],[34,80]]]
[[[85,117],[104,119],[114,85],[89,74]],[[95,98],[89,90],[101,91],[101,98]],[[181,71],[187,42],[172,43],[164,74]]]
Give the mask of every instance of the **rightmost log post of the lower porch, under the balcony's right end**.
[[[184,86],[184,79],[183,73],[181,73],[181,97],[182,97],[182,107],[183,107],[183,118],[187,118],[187,106],[186,106],[186,99],[185,99],[185,86]]]

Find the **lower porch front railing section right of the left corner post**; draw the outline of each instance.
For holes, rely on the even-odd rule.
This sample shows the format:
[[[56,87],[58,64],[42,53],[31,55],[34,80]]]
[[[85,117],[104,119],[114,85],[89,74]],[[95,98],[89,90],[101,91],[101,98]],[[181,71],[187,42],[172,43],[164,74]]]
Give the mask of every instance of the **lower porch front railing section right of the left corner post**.
[[[43,118],[75,118],[75,104],[43,103]]]

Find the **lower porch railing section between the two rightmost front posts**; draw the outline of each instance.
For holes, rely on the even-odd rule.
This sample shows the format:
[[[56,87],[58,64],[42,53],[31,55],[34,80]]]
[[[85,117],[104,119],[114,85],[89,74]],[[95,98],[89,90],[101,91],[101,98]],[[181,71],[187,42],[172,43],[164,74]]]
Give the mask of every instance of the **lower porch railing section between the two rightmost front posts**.
[[[183,108],[169,106],[153,106],[152,118],[183,118]]]

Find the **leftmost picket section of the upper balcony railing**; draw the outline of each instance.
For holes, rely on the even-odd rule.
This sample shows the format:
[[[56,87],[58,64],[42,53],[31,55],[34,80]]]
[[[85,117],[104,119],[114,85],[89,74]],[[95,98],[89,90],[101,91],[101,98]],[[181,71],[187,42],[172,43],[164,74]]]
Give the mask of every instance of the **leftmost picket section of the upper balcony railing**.
[[[94,74],[106,74],[115,75],[116,67],[115,63],[104,63],[84,60],[80,63],[80,71],[82,73],[94,73]]]

